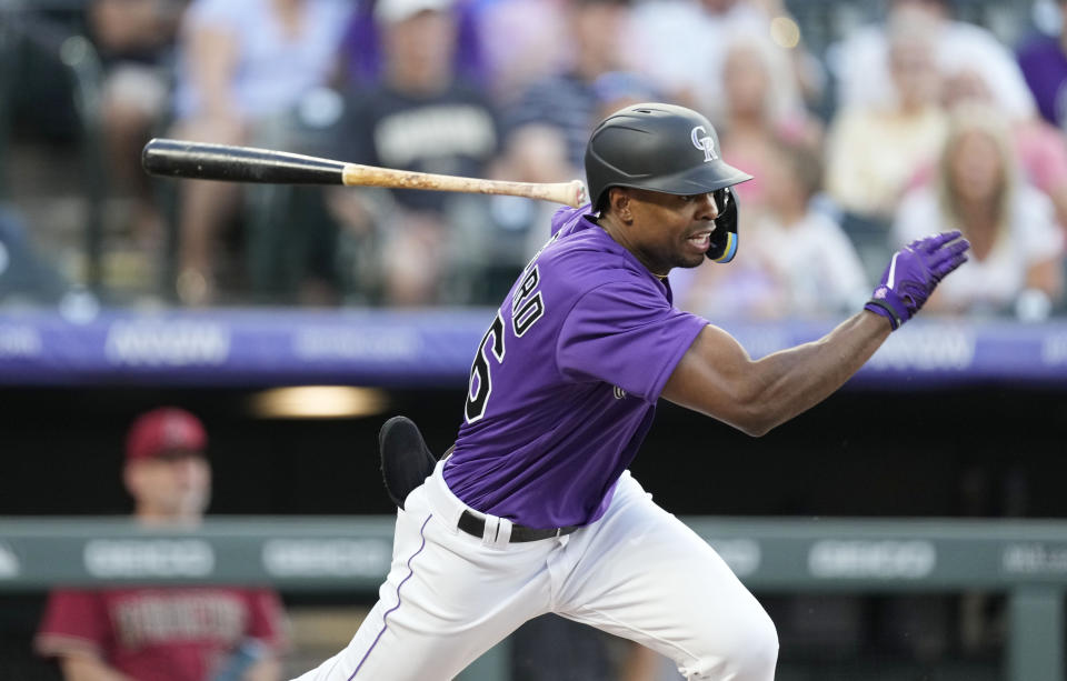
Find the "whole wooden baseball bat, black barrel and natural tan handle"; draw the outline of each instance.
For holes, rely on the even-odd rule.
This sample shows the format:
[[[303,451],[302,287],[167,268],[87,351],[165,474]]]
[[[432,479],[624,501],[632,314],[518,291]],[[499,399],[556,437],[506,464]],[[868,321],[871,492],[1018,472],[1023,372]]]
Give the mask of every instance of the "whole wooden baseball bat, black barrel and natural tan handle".
[[[558,183],[506,182],[343,163],[286,151],[153,139],[141,152],[149,174],[191,180],[268,184],[345,184],[429,189],[542,199],[578,208],[588,201],[581,180]]]

